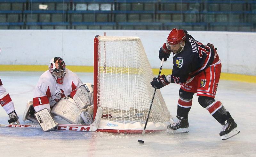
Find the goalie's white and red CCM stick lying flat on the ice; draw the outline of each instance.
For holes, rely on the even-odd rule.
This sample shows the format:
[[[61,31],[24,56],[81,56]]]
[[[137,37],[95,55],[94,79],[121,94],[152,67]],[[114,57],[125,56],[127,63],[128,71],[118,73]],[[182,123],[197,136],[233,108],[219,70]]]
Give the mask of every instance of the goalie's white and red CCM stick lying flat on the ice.
[[[100,125],[102,112],[103,112],[103,109],[101,107],[98,107],[95,119],[91,125],[58,124],[56,130],[94,132],[98,129],[98,126]],[[41,128],[40,125],[10,125],[10,124],[0,124],[0,127]]]

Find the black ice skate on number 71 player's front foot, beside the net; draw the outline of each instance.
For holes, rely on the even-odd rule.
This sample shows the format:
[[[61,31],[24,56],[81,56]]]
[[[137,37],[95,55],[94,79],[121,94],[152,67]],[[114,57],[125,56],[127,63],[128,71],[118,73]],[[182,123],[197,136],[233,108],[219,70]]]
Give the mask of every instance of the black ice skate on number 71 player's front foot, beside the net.
[[[184,117],[179,117],[176,116],[178,118],[176,123],[172,123],[170,125],[167,126],[167,131],[169,133],[186,133],[188,132],[188,118],[184,118]]]

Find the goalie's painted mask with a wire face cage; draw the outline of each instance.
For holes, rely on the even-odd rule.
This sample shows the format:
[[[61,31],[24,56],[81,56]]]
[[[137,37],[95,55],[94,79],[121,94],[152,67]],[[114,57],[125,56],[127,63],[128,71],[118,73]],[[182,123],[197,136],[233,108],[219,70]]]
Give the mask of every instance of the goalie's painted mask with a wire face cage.
[[[60,57],[54,57],[49,63],[49,71],[56,78],[59,84],[63,83],[65,75],[65,62]]]

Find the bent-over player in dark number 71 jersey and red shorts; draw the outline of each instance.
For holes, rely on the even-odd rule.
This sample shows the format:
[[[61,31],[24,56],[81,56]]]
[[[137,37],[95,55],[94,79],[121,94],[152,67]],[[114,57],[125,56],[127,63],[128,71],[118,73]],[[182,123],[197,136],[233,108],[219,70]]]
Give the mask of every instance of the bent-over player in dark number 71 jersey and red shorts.
[[[204,107],[221,125],[221,139],[238,134],[237,124],[215,95],[220,79],[221,61],[212,44],[203,45],[187,31],[172,29],[166,42],[159,50],[159,59],[166,61],[173,54],[171,75],[161,75],[151,82],[160,89],[169,83],[180,84],[176,123],[168,125],[167,132],[188,132],[188,112],[195,93],[199,104]]]

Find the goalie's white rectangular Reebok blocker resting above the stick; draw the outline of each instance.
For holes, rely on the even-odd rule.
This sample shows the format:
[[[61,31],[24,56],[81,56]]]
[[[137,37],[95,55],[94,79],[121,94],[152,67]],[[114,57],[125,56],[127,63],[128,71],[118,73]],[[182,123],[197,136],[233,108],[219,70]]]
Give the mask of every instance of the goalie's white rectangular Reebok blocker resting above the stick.
[[[44,132],[57,128],[56,122],[46,108],[36,112],[35,117]]]

